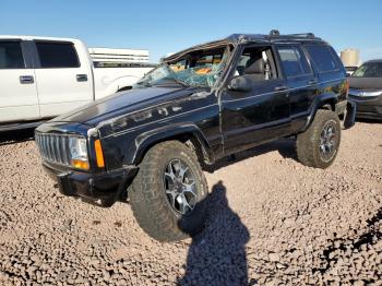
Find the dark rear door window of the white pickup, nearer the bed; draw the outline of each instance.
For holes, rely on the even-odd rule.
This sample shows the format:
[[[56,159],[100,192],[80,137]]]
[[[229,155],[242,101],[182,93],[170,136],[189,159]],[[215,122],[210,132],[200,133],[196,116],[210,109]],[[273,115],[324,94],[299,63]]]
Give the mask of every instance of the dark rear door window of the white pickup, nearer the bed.
[[[71,43],[36,43],[41,68],[79,68],[80,61]]]

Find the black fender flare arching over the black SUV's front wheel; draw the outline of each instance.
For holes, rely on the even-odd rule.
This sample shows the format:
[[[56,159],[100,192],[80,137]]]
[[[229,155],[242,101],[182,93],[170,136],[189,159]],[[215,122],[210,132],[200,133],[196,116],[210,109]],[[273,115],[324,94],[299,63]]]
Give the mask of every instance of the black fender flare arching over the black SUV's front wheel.
[[[195,147],[201,147],[201,155],[203,159],[207,163],[214,162],[214,154],[207,140],[203,135],[203,132],[193,123],[176,123],[150,130],[136,136],[135,153],[132,158],[133,164],[138,165],[143,159],[143,156],[147,150],[153,145],[182,135],[191,136],[191,139],[196,140],[199,146]],[[195,142],[193,142],[193,144]]]

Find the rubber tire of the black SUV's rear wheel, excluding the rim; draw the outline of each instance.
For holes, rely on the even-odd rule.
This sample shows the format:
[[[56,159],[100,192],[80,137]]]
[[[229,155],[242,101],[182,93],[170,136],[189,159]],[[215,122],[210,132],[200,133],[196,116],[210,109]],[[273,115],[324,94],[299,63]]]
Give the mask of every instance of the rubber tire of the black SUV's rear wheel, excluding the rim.
[[[323,159],[320,153],[320,138],[321,132],[327,123],[335,127],[336,141],[333,156],[329,159]],[[331,110],[319,109],[310,127],[303,133],[297,135],[297,157],[306,166],[324,169],[331,166],[337,156],[339,143],[341,122],[338,116]]]

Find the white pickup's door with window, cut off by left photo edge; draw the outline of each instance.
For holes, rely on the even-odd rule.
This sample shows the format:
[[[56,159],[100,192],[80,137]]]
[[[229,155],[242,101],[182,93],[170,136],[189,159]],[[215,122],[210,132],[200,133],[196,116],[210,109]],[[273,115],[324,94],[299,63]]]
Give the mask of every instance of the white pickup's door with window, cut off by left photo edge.
[[[0,123],[39,118],[36,80],[22,40],[0,40]]]

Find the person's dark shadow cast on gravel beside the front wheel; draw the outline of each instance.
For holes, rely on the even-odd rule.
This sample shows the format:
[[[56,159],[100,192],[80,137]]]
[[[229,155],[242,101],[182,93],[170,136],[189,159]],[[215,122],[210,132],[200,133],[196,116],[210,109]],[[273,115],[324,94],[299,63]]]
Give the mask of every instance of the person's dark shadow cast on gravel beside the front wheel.
[[[178,285],[248,285],[249,231],[229,207],[222,181],[212,188],[205,229],[192,238]]]

